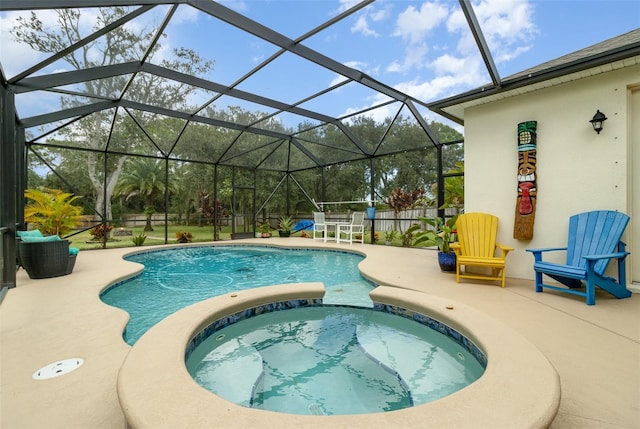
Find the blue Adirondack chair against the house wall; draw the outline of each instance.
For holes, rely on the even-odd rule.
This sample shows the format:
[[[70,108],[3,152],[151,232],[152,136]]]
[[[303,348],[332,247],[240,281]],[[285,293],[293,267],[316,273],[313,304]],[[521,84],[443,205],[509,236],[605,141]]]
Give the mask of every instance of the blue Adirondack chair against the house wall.
[[[543,288],[547,288],[584,296],[587,305],[596,303],[596,286],[616,298],[630,297],[631,291],[626,288],[625,272],[625,258],[629,252],[625,251],[626,244],[621,240],[628,223],[629,216],[616,211],[580,213],[569,218],[567,247],[527,249],[527,252],[533,253],[535,260],[533,269],[536,272],[536,292],[542,292]],[[558,250],[567,252],[565,265],[542,260],[543,252]],[[613,259],[618,261],[617,280],[604,275]],[[557,280],[568,289],[544,284],[543,274]]]

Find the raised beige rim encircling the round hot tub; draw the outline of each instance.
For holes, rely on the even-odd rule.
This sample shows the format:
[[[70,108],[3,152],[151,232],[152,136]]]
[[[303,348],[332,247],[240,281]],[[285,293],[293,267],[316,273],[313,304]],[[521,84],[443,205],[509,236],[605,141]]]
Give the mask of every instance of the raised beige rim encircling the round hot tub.
[[[191,338],[226,315],[278,301],[318,299],[321,283],[266,286],[214,297],[174,313],[131,348],[117,392],[131,428],[175,427],[548,427],[560,404],[560,379],[549,360],[522,335],[473,308],[424,292],[378,286],[374,302],[437,319],[487,355],[484,375],[445,398],[412,408],[346,416],[305,416],[233,404],[198,385],[188,373]],[[523,371],[523,368],[526,371]]]

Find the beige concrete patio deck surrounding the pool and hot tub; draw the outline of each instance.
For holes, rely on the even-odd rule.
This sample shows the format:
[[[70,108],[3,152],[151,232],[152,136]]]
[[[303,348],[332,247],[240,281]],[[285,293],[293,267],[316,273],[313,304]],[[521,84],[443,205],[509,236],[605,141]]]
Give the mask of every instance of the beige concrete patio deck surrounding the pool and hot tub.
[[[362,252],[361,271],[380,284],[470,305],[536,345],[561,379],[552,428],[640,428],[639,295],[618,300],[599,292],[596,305],[587,306],[567,294],[536,294],[531,281],[510,278],[504,289],[494,282],[456,284],[454,275],[440,272],[431,250],[301,238],[241,241],[250,243]],[[122,260],[135,250],[83,251],[65,277],[30,280],[18,272],[18,286],[0,305],[0,427],[126,427],[116,378],[130,350],[122,340],[128,316],[103,304],[99,293],[142,268]],[[72,357],[84,365],[65,376],[32,379],[37,369]]]

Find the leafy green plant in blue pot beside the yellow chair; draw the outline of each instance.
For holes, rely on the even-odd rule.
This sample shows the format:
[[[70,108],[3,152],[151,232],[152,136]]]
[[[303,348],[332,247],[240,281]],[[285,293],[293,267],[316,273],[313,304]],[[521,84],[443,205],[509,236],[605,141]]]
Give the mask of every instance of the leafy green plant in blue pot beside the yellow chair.
[[[416,233],[414,244],[438,246],[438,264],[442,271],[455,271],[456,254],[451,250],[451,243],[455,241],[455,227],[458,215],[447,220],[439,216],[432,218],[420,217],[418,220],[432,227]]]

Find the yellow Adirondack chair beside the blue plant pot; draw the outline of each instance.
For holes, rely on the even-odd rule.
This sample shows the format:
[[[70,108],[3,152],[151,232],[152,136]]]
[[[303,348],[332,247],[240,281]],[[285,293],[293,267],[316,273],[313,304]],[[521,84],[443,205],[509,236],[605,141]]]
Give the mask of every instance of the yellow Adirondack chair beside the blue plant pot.
[[[460,277],[498,280],[504,287],[505,260],[513,247],[496,243],[498,218],[488,213],[461,214],[456,221],[456,229],[458,242],[451,244],[456,253],[456,282],[460,283]],[[461,271],[463,265],[464,271]],[[470,266],[490,268],[491,274],[468,273],[467,267]]]

